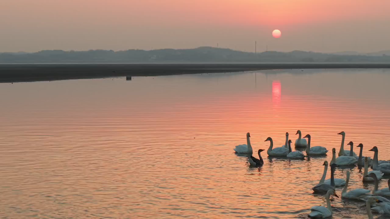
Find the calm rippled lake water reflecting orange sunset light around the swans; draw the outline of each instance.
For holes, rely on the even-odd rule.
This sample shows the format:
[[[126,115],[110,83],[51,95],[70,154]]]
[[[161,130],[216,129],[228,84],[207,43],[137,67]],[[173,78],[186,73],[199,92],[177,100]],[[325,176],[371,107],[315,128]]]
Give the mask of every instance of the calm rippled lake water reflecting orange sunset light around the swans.
[[[307,218],[326,157],[233,152],[284,144],[379,148],[390,159],[390,71],[290,70],[0,84],[1,218]],[[348,146],[348,145],[346,145]],[[354,148],[355,149],[355,148]],[[349,149],[348,149],[349,150]],[[357,151],[356,151],[357,152]],[[256,155],[257,156],[257,155]],[[357,168],[350,188],[372,189]],[[330,170],[327,178],[330,177]],[[385,177],[390,178],[390,177]],[[380,188],[386,186],[382,180]],[[342,188],[341,188],[342,189]],[[341,197],[341,189],[337,193]],[[332,198],[333,218],[367,218]],[[379,215],[375,215],[378,217]]]

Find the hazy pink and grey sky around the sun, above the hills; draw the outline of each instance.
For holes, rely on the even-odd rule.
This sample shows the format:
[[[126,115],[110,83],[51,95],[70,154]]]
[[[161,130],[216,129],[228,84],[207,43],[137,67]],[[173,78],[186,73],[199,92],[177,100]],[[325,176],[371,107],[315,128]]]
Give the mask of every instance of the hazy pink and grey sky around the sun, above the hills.
[[[390,49],[390,0],[0,0],[0,51]],[[282,31],[275,39],[271,32]]]

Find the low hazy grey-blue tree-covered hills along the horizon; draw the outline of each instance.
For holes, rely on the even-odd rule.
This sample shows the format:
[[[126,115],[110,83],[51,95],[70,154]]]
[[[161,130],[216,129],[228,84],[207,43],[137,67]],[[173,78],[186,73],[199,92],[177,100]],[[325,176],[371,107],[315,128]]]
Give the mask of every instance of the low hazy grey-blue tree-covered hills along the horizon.
[[[126,51],[43,50],[37,53],[0,53],[0,63],[390,62],[390,51],[382,51],[378,54],[381,55],[360,55],[353,52],[327,54],[307,51],[287,53],[266,51],[255,54],[213,47],[150,51],[139,49]]]

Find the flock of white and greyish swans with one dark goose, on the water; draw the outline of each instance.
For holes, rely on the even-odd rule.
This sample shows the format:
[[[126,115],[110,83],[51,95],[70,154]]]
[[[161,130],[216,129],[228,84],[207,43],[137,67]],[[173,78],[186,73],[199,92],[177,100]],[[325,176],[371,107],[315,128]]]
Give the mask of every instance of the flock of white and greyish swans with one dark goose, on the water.
[[[267,154],[269,157],[288,157],[291,159],[303,159],[308,155],[326,155],[328,150],[321,146],[310,147],[310,134],[307,134],[302,138],[301,131],[298,130],[296,134],[299,134],[298,139],[295,141],[296,148],[304,148],[306,147],[306,155],[304,155],[301,151],[291,150],[292,141],[289,140],[289,133],[286,132],[286,140],[285,144],[281,147],[273,147],[273,141],[271,137],[268,137],[265,141],[270,142],[270,146],[267,150]],[[313,218],[323,218],[332,216],[332,207],[330,205],[330,196],[337,196],[336,187],[344,186],[341,197],[347,198],[350,200],[363,200],[366,202],[367,215],[369,219],[373,219],[372,212],[376,212],[379,214],[390,215],[390,200],[383,196],[390,197],[390,179],[388,180],[388,186],[383,189],[378,189],[379,180],[385,174],[390,174],[390,161],[378,161],[378,148],[373,147],[371,150],[374,152],[374,159],[371,157],[363,156],[363,144],[359,144],[356,147],[360,148],[359,155],[356,155],[353,152],[353,142],[350,141],[347,145],[350,146],[350,150],[344,150],[344,140],[345,140],[345,132],[338,133],[342,136],[341,147],[338,153],[338,157],[336,157],[336,149],[332,148],[332,160],[330,161],[330,179],[325,180],[326,172],[328,170],[329,163],[328,161],[324,161],[324,172],[319,180],[319,183],[312,187],[314,193],[326,193],[326,206],[314,206],[310,208],[311,212],[309,217]],[[306,140],[307,138],[307,140]],[[248,154],[248,160],[251,166],[261,166],[264,164],[264,161],[261,157],[261,152],[263,149],[258,150],[259,159],[252,156],[253,149],[250,144],[250,133],[246,133],[246,142],[245,145],[237,145],[234,148],[234,151],[239,154]],[[369,191],[367,189],[353,189],[348,191],[349,184],[349,171],[346,172],[346,179],[334,178],[334,171],[338,166],[351,166],[358,164],[358,166],[364,166],[363,173],[363,182],[374,182],[374,190]],[[371,167],[371,171],[368,171],[369,166]],[[371,193],[371,194],[370,194]]]

